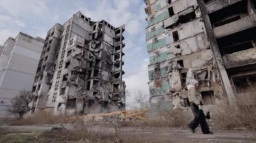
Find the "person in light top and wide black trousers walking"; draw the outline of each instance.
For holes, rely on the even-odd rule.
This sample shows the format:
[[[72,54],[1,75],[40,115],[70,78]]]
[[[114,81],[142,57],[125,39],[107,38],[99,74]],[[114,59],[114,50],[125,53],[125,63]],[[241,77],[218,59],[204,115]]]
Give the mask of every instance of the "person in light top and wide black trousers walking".
[[[187,82],[187,90],[190,107],[195,118],[191,123],[189,123],[188,128],[191,132],[195,133],[195,128],[200,124],[203,134],[213,134],[213,132],[209,130],[209,126],[205,120],[205,115],[201,106],[201,97],[196,94],[197,87],[198,81],[192,76],[192,78]]]

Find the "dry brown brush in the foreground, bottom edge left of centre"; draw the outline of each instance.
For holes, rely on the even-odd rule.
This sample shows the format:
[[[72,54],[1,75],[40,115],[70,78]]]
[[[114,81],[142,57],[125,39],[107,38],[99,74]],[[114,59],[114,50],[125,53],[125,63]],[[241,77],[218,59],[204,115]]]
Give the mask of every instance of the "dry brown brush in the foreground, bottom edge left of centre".
[[[121,129],[96,126],[92,121],[73,120],[73,124],[62,128],[53,128],[39,136],[44,142],[121,142]]]

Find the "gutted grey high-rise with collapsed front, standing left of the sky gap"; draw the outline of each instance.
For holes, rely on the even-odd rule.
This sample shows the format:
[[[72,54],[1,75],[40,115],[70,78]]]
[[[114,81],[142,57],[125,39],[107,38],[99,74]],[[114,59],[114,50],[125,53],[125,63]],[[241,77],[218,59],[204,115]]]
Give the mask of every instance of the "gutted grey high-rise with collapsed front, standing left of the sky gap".
[[[46,35],[32,112],[87,114],[125,108],[123,32],[77,12]]]

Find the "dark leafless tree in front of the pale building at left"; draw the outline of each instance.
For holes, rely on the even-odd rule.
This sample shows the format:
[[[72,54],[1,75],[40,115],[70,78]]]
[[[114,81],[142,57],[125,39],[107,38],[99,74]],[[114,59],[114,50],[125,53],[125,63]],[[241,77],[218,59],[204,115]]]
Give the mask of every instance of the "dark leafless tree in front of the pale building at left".
[[[34,97],[35,95],[30,91],[20,91],[20,94],[11,101],[12,105],[7,111],[13,114],[17,113],[22,118],[25,113],[33,109],[33,106],[30,107],[29,105]]]

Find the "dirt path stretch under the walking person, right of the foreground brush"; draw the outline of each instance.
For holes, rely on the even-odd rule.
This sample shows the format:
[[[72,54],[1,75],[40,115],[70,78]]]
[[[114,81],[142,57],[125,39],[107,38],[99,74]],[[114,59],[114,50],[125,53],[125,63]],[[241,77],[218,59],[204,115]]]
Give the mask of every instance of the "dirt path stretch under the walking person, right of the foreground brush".
[[[179,128],[149,128],[146,130],[125,129],[127,136],[140,136],[146,140],[160,142],[256,142],[256,132],[242,132],[234,130],[212,130],[214,134],[195,134],[189,130]]]

